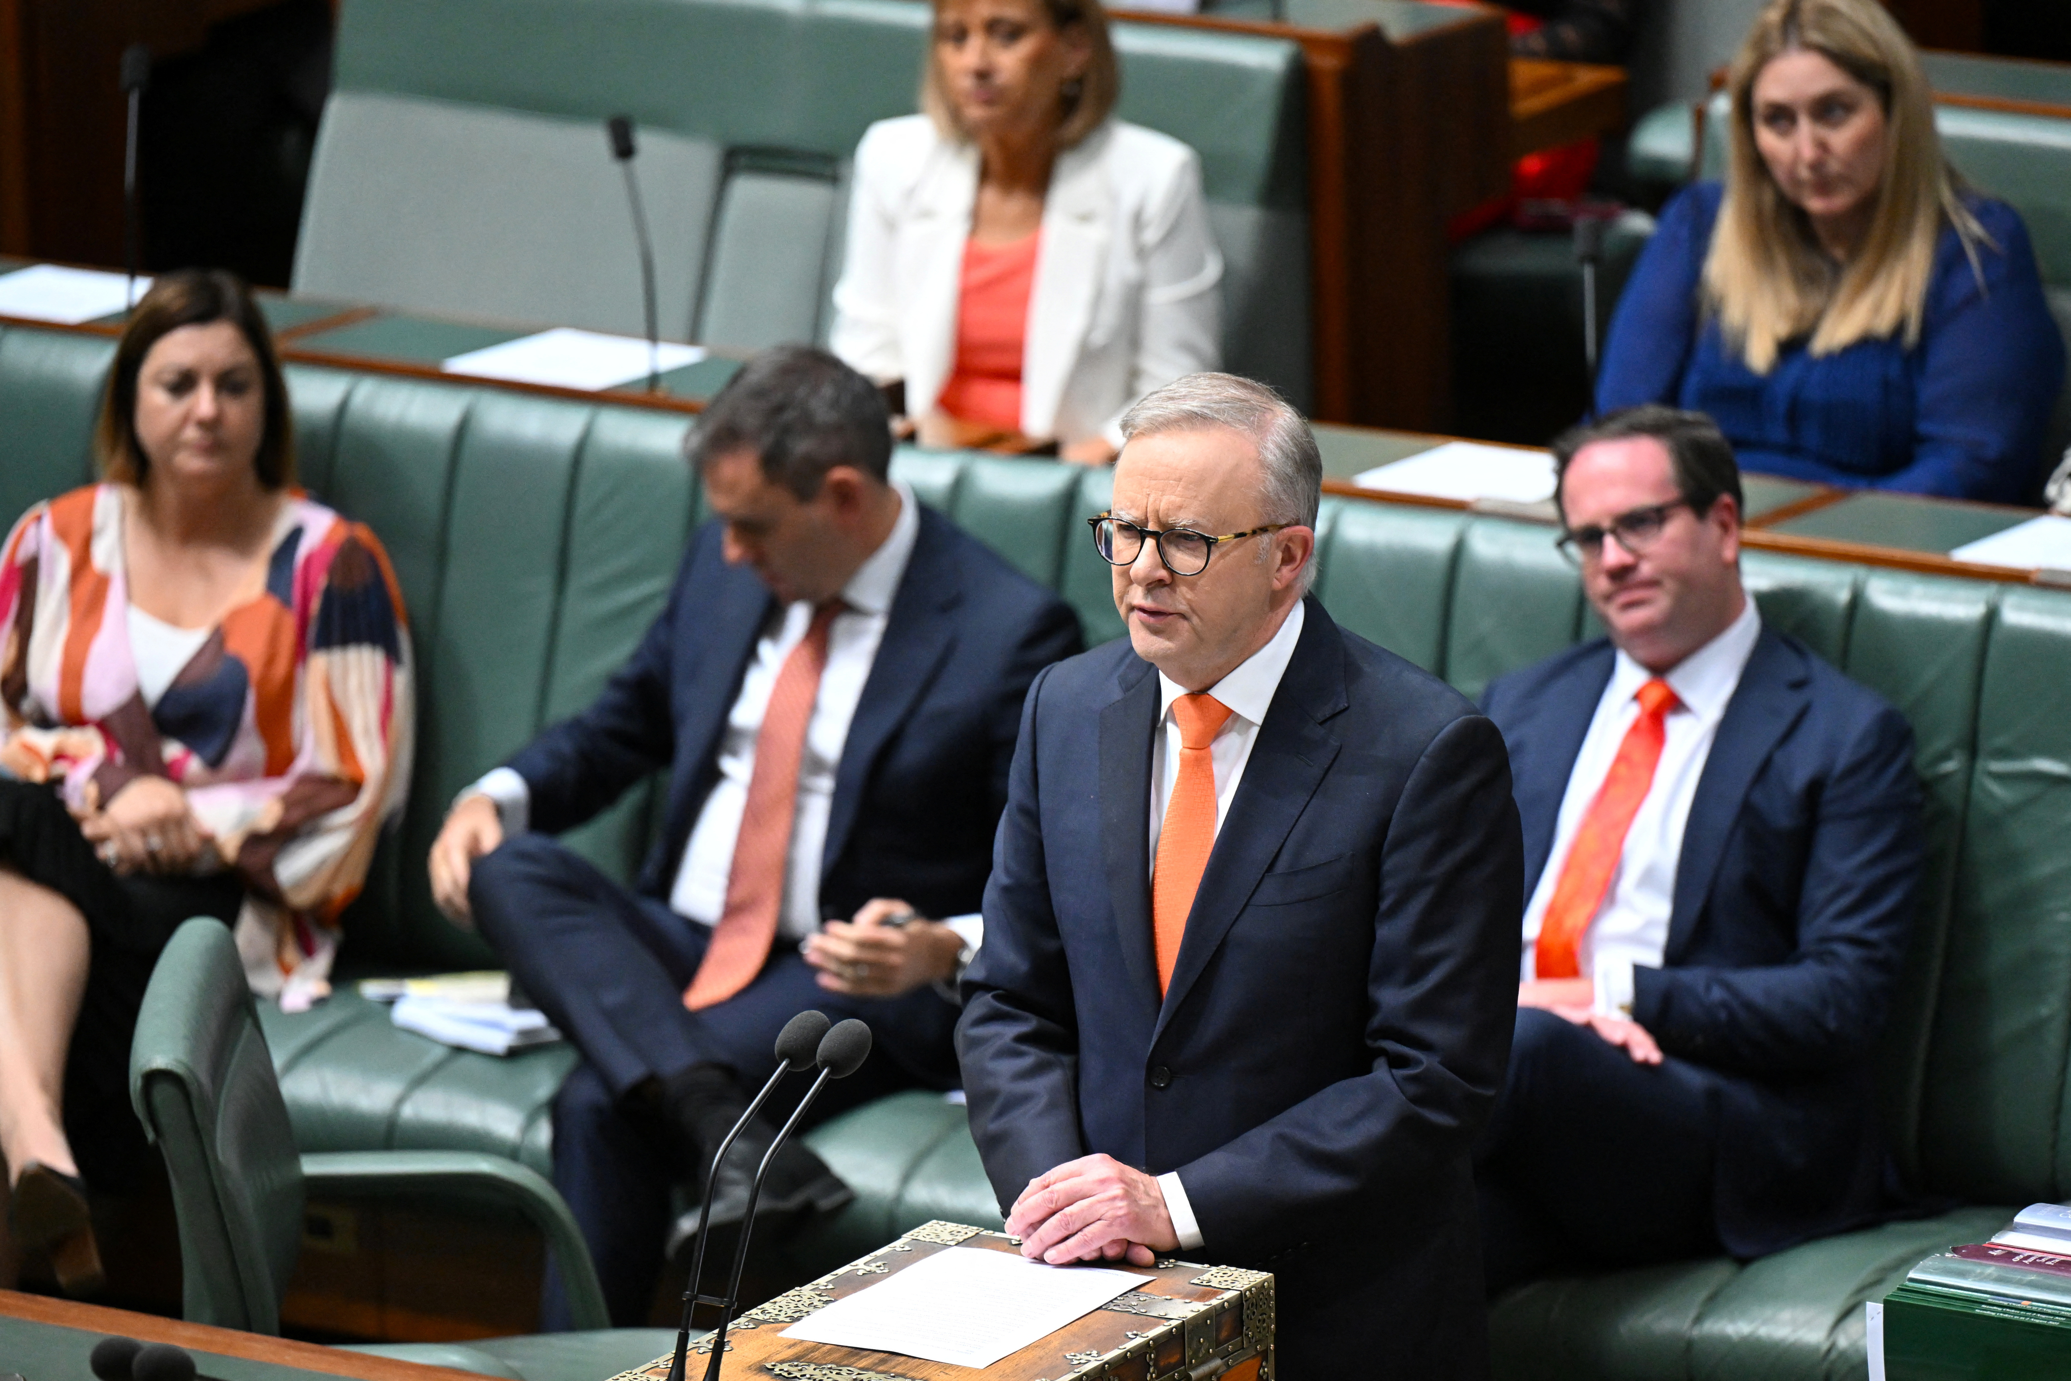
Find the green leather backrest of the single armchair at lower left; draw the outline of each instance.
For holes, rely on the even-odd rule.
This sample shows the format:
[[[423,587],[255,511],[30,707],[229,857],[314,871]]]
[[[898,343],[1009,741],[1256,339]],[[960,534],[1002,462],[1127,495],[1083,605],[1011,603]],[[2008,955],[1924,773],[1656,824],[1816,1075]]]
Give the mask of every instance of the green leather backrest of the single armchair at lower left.
[[[302,1164],[288,1106],[222,921],[186,921],[151,971],[130,1046],[130,1101],[166,1155],[188,1323],[280,1331],[302,1251]]]

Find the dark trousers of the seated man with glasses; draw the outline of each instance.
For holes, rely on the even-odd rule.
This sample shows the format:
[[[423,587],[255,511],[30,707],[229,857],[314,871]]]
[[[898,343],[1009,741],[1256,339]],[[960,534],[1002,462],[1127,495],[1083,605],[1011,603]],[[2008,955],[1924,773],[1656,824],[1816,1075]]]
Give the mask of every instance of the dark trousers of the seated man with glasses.
[[[1489,1296],[1570,1269],[1717,1253],[1715,1089],[1688,1060],[1636,1064],[1593,1029],[1520,1006],[1475,1157]]]

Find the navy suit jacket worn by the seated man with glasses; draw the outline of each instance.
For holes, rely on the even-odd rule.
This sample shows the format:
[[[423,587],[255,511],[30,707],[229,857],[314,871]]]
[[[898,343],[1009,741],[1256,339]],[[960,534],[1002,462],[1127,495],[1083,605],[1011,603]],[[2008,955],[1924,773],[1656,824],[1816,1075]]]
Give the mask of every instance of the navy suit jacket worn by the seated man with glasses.
[[[1613,658],[1597,640],[1483,696],[1510,743],[1526,894]],[[1912,727],[1764,627],[1690,805],[1667,950],[1634,971],[1632,1000],[1665,1054],[1715,1077],[1715,1220],[1738,1257],[1880,1207],[1872,1052],[1920,868]]]

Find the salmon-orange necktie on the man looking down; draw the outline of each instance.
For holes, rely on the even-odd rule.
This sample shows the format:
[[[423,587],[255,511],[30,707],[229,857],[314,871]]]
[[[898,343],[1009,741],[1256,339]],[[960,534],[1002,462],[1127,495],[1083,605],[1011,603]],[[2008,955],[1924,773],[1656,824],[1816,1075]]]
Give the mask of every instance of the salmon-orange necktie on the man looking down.
[[[727,909],[704,946],[698,975],[683,990],[683,1006],[694,1012],[748,988],[762,973],[770,942],[777,940],[791,818],[797,814],[797,768],[806,758],[812,702],[820,698],[820,673],[826,671],[826,629],[841,611],[839,598],[814,609],[812,625],[783,658],[777,685],[770,687],[762,729],[756,733],[756,766],[748,774],[741,832],[733,839]]]

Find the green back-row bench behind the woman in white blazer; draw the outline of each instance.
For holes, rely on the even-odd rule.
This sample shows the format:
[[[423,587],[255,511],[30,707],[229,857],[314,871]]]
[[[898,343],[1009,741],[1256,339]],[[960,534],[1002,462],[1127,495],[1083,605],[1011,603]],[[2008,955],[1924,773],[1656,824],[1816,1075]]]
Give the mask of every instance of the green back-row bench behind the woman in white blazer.
[[[296,244],[298,292],[642,331],[603,122],[640,124],[663,335],[824,340],[847,166],[909,114],[911,0],[352,0]],[[1224,356],[1311,395],[1307,114],[1278,37],[1116,25],[1125,120],[1201,153]]]

